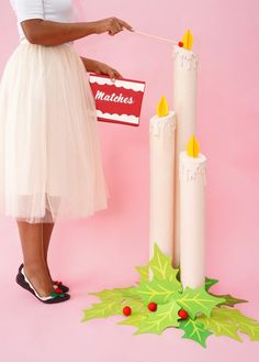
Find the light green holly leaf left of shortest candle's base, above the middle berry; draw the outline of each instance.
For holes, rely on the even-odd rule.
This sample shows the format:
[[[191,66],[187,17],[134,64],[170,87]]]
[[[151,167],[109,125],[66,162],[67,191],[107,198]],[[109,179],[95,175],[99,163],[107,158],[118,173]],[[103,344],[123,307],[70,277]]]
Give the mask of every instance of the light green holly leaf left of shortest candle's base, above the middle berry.
[[[179,283],[169,281],[157,281],[151,282],[142,281],[140,285],[135,287],[133,293],[140,297],[147,305],[150,301],[157,304],[168,303],[172,297],[179,295]]]

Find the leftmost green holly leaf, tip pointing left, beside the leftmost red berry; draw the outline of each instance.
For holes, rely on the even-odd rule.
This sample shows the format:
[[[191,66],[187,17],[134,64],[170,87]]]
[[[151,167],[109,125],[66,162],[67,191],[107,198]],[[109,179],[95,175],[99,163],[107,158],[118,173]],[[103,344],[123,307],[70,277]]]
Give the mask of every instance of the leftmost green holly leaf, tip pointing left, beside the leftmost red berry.
[[[93,304],[90,308],[83,309],[81,321],[88,321],[93,318],[106,318],[122,314],[122,305],[117,300],[106,300]]]

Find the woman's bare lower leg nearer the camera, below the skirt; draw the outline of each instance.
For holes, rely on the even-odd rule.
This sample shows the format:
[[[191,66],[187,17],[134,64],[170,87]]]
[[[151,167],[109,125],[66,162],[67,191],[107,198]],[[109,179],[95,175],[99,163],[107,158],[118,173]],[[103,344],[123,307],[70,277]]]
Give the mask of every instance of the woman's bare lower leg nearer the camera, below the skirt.
[[[40,296],[55,292],[44,256],[43,223],[18,221],[21,239],[24,272]]]

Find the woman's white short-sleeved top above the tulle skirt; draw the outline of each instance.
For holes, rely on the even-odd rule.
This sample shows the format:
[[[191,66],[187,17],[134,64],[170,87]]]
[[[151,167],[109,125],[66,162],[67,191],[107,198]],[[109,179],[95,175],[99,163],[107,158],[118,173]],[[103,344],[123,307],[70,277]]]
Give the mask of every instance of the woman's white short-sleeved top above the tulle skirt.
[[[77,22],[78,13],[72,0],[10,0],[18,18],[20,40],[24,39],[21,22],[29,19],[43,19],[57,22]]]

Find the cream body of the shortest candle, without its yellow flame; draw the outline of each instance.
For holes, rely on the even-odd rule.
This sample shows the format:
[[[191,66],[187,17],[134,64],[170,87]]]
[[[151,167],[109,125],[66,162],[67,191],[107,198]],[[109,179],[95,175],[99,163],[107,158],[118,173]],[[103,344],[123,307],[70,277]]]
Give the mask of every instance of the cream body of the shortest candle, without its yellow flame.
[[[205,278],[206,157],[180,153],[180,270],[183,288],[198,288]]]

